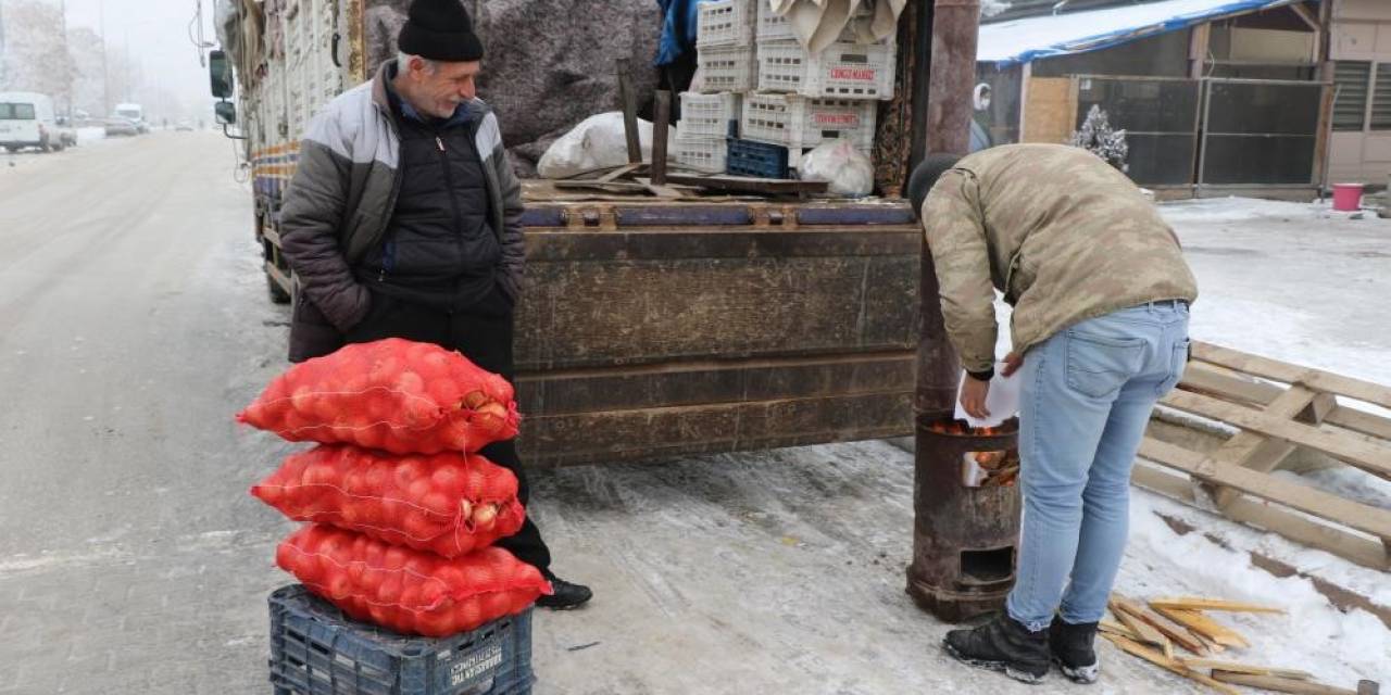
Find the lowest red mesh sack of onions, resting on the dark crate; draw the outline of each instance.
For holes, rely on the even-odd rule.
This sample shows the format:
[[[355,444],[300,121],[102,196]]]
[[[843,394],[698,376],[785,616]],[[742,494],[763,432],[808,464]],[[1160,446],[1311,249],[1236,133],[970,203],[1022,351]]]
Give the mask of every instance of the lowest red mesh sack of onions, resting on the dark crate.
[[[551,594],[540,570],[501,548],[451,560],[319,524],[281,542],[275,564],[353,619],[424,637],[476,630]]]

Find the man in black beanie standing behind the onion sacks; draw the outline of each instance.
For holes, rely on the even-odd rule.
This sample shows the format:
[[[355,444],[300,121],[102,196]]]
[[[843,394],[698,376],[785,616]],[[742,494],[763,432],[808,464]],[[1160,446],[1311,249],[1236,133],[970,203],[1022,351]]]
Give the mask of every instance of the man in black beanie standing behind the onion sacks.
[[[483,42],[459,0],[415,0],[401,56],[334,99],[309,124],[281,210],[282,250],[298,293],[289,359],[344,343],[405,338],[459,350],[513,379],[513,306],[522,289],[522,185],[498,118],[476,97]],[[480,452],[512,470],[512,442]],[[527,516],[498,542],[534,564],[577,607],[588,588],[551,573]]]

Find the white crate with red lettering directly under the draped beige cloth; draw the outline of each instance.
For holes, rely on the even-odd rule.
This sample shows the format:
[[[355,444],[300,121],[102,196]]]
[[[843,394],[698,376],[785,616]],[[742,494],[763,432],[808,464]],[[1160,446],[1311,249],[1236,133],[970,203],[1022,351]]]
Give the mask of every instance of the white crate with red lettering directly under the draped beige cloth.
[[[810,97],[892,99],[894,46],[833,43],[811,56],[797,42],[758,44],[758,90]]]

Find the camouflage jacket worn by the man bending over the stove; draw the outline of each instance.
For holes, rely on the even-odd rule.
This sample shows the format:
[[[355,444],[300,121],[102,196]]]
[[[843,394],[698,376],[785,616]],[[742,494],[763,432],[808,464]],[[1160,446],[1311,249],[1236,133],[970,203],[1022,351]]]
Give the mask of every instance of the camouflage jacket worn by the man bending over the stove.
[[[1078,321],[1198,297],[1174,231],[1124,174],[1078,147],[1006,145],[963,158],[922,206],[947,335],[968,371],[995,364],[995,289],[1014,352]]]

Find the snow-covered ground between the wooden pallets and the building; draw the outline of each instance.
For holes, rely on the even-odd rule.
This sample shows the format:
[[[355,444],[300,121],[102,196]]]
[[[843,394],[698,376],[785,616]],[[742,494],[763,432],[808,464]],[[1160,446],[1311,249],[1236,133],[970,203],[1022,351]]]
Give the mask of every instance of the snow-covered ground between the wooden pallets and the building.
[[[1251,199],[1161,211],[1198,275],[1195,338],[1391,384],[1391,221]]]

